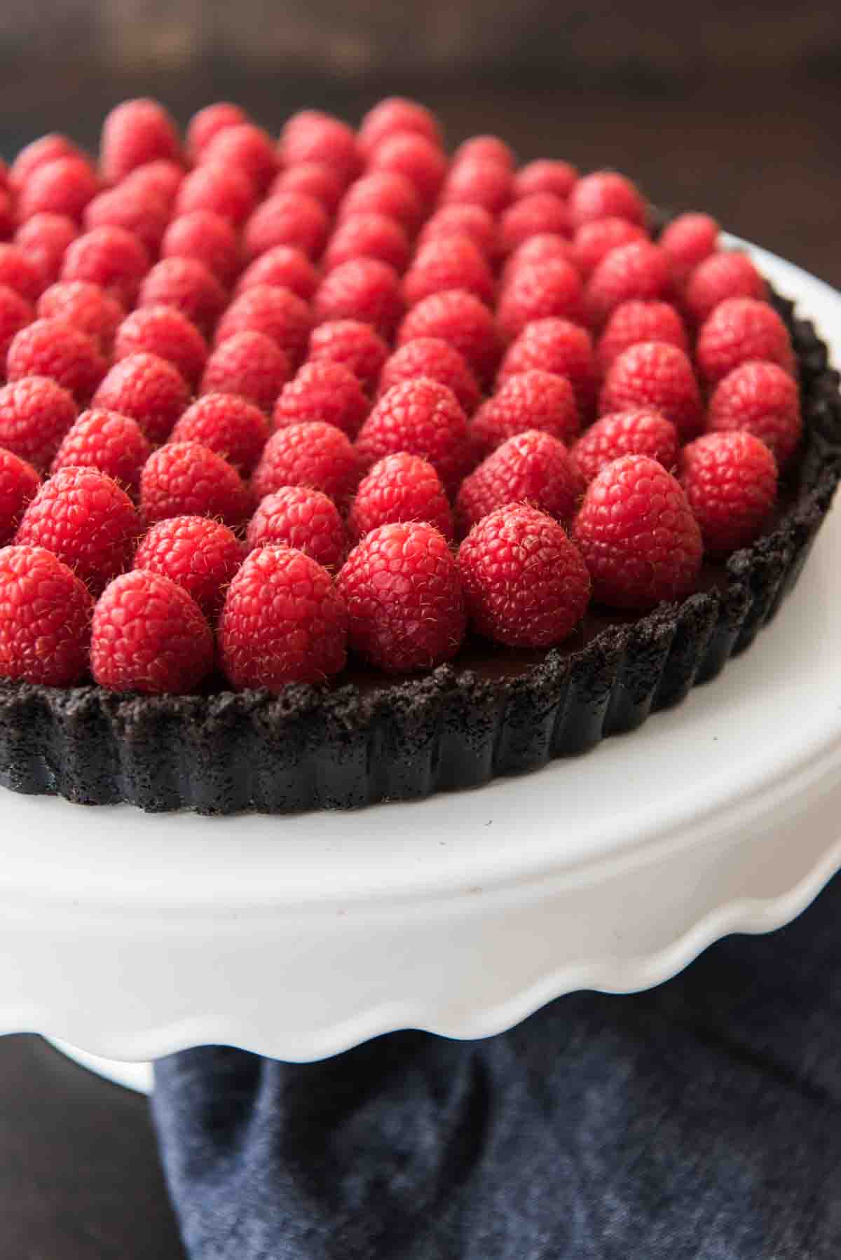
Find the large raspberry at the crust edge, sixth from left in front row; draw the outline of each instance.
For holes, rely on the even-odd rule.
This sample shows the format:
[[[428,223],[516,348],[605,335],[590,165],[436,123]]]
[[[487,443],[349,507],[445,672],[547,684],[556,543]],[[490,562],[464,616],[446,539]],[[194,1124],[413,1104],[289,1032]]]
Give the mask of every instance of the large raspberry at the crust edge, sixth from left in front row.
[[[590,481],[572,539],[600,604],[644,611],[695,590],[701,530],[680,484],[647,455],[623,455]]]

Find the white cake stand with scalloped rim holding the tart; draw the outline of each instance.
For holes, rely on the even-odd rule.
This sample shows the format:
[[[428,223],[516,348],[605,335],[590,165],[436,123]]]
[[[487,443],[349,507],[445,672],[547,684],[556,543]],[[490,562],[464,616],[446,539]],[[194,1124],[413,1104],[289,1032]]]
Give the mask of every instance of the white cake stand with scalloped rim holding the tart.
[[[841,297],[757,257],[838,357]],[[139,1063],[209,1042],[311,1060],[405,1027],[482,1037],[787,922],[841,866],[840,544],[836,510],[715,682],[525,777],[280,818],[0,790],[0,1032],[144,1086]]]

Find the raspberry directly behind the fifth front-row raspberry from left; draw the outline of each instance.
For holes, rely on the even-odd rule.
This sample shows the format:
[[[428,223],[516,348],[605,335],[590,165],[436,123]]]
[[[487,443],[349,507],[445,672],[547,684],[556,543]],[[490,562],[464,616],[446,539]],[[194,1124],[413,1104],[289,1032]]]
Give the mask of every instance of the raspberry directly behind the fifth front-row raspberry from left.
[[[530,503],[556,520],[572,519],[581,493],[564,442],[527,428],[497,446],[461,483],[456,501],[463,532],[497,508]]]

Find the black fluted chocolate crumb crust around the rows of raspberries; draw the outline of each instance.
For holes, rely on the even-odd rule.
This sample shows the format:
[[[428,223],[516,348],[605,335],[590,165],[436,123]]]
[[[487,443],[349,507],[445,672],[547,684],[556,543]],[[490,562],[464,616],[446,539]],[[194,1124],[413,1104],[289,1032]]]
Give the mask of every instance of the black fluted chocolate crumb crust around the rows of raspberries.
[[[475,788],[630,731],[744,651],[794,587],[841,476],[838,374],[774,296],[797,352],[801,456],[769,530],[701,590],[643,617],[591,611],[562,648],[473,641],[407,680],[362,667],[338,685],[195,696],[0,684],[0,784],[84,805],[286,813]]]

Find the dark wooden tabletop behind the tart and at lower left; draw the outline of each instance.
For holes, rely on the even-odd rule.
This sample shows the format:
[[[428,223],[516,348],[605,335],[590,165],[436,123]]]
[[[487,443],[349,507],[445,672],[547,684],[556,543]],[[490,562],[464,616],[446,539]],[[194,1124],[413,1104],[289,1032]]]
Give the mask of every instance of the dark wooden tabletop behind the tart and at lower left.
[[[277,130],[300,105],[358,118],[383,82],[318,89],[258,76],[247,87],[224,66],[119,82],[57,74],[35,87],[23,60],[0,84],[5,154],[59,125],[93,144],[116,100],[145,92],[184,121],[209,100],[245,100]],[[69,77],[68,77],[69,74]],[[577,83],[499,89],[488,83],[415,89],[458,142],[506,136],[523,159],[565,156],[615,165],[664,207],[709,209],[734,232],[841,285],[837,76],[715,74],[624,88]],[[145,1100],[106,1085],[35,1037],[0,1040],[0,1260],[180,1260]]]

